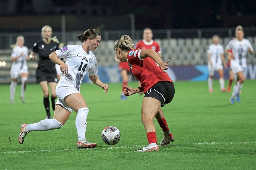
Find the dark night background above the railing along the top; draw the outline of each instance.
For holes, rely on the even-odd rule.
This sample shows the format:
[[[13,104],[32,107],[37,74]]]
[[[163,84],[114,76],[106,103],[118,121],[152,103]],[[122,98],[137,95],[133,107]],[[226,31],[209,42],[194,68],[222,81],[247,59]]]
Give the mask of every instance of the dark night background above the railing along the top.
[[[87,20],[91,23],[97,22],[102,31],[128,30],[130,16],[127,14],[133,13],[136,29],[147,26],[152,29],[224,28],[235,27],[237,23],[244,27],[256,26],[256,1],[0,0],[0,3],[0,19],[2,18],[1,23],[6,22],[5,25],[10,24],[7,22],[8,18],[15,20],[17,16],[22,16],[22,19],[17,19],[19,20],[17,25],[19,25],[20,20],[26,20],[26,16],[44,16],[47,19],[51,16],[67,15],[79,18],[82,26],[90,24]],[[106,17],[109,18],[109,25],[106,23],[102,25],[103,20],[108,20]],[[35,19],[33,22],[42,22],[44,19]],[[125,25],[126,22],[129,24]],[[124,26],[115,23],[121,23],[120,25]],[[74,24],[78,25],[77,22]],[[92,26],[95,27],[95,24]],[[0,26],[0,29],[6,31],[7,27]],[[20,29],[9,27],[8,30],[10,29],[24,31],[33,27],[23,26]],[[60,28],[56,27],[55,30]]]

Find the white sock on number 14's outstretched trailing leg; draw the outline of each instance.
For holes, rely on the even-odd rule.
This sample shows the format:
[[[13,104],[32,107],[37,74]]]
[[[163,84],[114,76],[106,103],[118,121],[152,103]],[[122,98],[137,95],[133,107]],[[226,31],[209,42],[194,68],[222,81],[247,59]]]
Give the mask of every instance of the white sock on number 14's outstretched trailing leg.
[[[56,119],[44,119],[38,123],[28,124],[26,130],[30,131],[47,131],[52,129],[60,129],[63,125]]]

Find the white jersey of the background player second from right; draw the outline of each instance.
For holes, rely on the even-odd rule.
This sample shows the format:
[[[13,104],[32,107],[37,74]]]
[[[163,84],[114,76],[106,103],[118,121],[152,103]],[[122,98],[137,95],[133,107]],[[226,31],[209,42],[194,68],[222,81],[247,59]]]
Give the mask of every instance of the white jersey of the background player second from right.
[[[211,55],[213,65],[222,65],[221,55],[224,54],[223,46],[220,44],[211,44],[208,47],[207,53]]]

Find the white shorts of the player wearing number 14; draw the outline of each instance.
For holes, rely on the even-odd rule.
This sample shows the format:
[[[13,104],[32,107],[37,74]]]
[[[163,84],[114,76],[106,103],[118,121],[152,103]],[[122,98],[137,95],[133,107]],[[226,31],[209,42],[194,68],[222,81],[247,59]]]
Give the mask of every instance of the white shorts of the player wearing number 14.
[[[56,95],[58,97],[56,105],[61,105],[65,109],[72,112],[72,109],[68,107],[67,103],[64,101],[64,98],[70,94],[80,93],[75,86],[73,85],[57,85],[56,86]]]

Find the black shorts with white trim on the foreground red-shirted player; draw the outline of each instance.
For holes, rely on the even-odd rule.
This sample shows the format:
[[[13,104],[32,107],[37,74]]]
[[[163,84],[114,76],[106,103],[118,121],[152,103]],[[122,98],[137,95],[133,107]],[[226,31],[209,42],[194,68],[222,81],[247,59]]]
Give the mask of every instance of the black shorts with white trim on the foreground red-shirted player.
[[[144,97],[152,97],[161,102],[161,107],[172,101],[175,90],[172,82],[159,81],[147,90]]]

